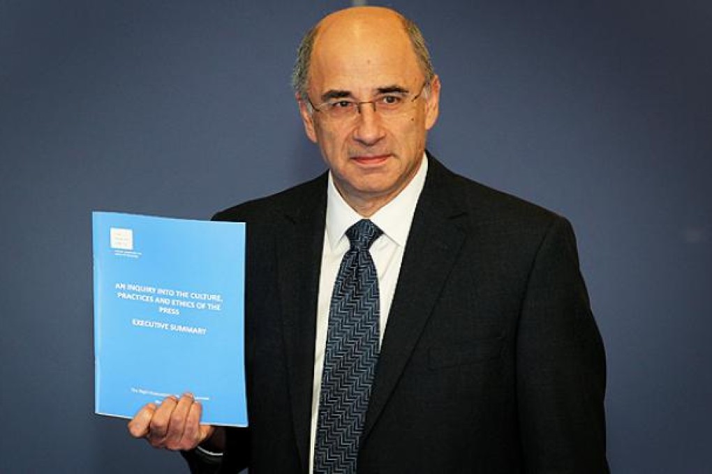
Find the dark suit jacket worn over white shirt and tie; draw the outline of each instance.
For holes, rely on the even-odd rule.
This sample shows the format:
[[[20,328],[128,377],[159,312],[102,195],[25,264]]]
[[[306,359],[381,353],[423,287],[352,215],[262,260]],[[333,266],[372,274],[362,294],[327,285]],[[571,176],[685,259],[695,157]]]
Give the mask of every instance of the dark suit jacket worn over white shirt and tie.
[[[221,472],[308,471],[326,185],[215,217],[248,223],[250,427],[229,430]],[[569,223],[430,157],[359,472],[606,473],[604,389]]]

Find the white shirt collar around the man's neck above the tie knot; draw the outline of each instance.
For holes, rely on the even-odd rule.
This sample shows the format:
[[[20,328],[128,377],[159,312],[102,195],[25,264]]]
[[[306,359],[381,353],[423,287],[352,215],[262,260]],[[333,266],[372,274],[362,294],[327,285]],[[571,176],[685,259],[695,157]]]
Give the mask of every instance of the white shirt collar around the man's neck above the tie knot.
[[[423,153],[418,172],[408,185],[387,205],[377,210],[370,217],[384,235],[401,247],[405,247],[413,222],[415,206],[425,185],[428,172],[428,158]],[[332,249],[336,249],[349,227],[363,217],[346,203],[334,185],[334,179],[329,173],[329,184],[326,200],[326,237]]]

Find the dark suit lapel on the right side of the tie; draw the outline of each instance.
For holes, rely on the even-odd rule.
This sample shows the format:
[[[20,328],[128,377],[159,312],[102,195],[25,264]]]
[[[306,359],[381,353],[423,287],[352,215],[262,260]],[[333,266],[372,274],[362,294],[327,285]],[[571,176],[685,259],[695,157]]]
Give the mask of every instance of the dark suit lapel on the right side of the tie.
[[[388,316],[363,436],[387,403],[434,308],[465,239],[464,210],[454,199],[455,181],[429,156]]]

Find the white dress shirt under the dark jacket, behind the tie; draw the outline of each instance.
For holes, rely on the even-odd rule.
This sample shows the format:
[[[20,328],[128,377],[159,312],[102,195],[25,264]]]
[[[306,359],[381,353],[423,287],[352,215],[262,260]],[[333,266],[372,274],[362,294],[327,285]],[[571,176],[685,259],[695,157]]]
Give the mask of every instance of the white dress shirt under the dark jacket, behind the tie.
[[[428,159],[423,155],[423,161],[412,181],[390,203],[380,208],[370,220],[383,231],[383,235],[373,242],[370,253],[378,274],[378,289],[380,296],[379,338],[387,328],[388,313],[393,301],[398,274],[400,272],[405,244],[413,222],[415,206],[425,184],[428,171]],[[314,386],[312,392],[312,419],[309,472],[314,469],[314,446],[319,417],[319,394],[321,377],[324,369],[324,352],[326,350],[326,334],[329,327],[329,308],[331,293],[334,289],[336,274],[341,260],[350,247],[346,230],[363,217],[353,210],[341,197],[334,185],[331,173],[326,204],[326,225],[324,230],[324,249],[321,259],[321,274],[319,279],[319,299],[316,318],[316,345],[314,355]]]

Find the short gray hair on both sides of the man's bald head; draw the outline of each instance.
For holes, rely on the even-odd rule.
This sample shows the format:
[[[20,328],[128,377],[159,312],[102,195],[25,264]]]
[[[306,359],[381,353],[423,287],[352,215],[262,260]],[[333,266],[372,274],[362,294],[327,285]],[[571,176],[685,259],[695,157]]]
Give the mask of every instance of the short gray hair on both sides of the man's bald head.
[[[435,76],[435,70],[433,69],[433,63],[430,59],[430,53],[428,47],[425,44],[425,38],[423,38],[423,33],[420,28],[414,23],[414,21],[409,20],[405,16],[398,14],[401,19],[401,23],[404,31],[410,39],[410,43],[413,47],[413,52],[418,61],[420,70],[425,76],[426,89],[429,89],[429,85],[433,77]],[[294,69],[292,70],[292,87],[294,87],[294,92],[297,93],[302,99],[307,98],[307,89],[309,87],[309,65],[311,63],[312,50],[314,49],[314,40],[319,32],[319,25],[317,24],[311,28],[302,38],[301,43],[299,43],[299,48],[297,49],[297,59],[294,63]],[[426,91],[426,94],[429,91]]]

